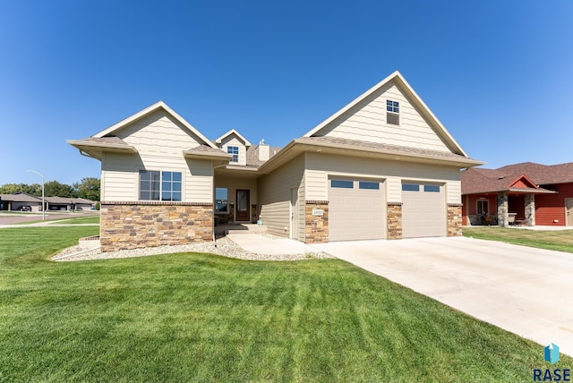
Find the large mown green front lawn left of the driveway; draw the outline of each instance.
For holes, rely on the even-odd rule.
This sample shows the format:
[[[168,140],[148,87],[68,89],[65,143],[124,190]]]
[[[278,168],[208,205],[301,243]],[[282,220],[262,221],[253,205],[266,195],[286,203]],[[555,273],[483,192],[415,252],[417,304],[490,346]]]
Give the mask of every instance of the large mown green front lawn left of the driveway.
[[[341,260],[49,261],[0,230],[0,381],[532,381],[543,346]],[[561,355],[554,368],[573,368]]]

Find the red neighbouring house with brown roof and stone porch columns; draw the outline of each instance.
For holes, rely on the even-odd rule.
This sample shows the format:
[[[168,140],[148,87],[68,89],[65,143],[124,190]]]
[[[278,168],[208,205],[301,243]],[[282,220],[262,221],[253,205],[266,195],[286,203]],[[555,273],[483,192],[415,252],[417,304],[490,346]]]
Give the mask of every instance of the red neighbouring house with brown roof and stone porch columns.
[[[573,226],[573,163],[462,172],[462,224]]]

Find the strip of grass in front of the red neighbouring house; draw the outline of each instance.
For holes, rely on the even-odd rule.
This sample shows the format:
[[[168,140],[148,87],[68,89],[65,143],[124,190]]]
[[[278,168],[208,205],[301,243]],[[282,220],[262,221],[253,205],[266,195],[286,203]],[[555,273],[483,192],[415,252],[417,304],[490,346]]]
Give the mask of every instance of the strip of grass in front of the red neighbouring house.
[[[464,236],[520,244],[540,249],[573,252],[573,230],[526,230],[499,226],[464,227]]]

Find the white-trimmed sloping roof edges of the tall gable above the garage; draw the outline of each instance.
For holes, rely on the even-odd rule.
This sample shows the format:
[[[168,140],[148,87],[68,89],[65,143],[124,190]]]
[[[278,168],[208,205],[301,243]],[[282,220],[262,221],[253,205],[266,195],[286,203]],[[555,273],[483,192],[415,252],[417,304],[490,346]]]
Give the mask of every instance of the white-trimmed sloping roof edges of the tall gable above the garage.
[[[436,117],[432,113],[432,110],[430,110],[430,108],[425,105],[422,98],[420,98],[417,95],[415,90],[410,86],[410,84],[408,84],[406,79],[398,71],[393,72],[387,78],[374,85],[371,89],[366,90],[362,95],[358,96],[352,102],[342,107],[334,115],[329,116],[329,118],[324,120],[322,123],[319,123],[316,127],[312,128],[311,131],[306,132],[306,134],[304,134],[303,137],[312,137],[314,134],[321,131],[321,129],[329,125],[329,123],[335,121],[339,116],[344,115],[354,106],[362,102],[365,98],[370,97],[373,93],[375,93],[376,91],[387,85],[390,81],[394,81],[398,86],[398,88],[402,91],[402,93],[411,100],[412,104],[418,108],[418,110],[428,120],[428,122],[436,130],[440,138],[445,141],[446,145],[453,153],[459,154],[464,157],[468,157],[464,149],[462,149],[461,146],[458,144],[458,142],[454,140],[452,135],[449,134],[446,127],[442,125],[442,123],[440,123],[438,117]]]

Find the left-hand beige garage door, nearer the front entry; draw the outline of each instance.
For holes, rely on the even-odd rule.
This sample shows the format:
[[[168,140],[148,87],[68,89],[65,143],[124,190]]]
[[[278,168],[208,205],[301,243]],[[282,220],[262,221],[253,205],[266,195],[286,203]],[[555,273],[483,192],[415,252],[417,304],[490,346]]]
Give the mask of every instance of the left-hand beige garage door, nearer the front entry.
[[[385,238],[384,183],[329,179],[329,241]]]

